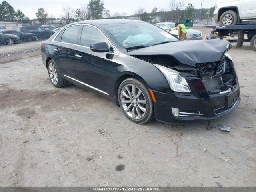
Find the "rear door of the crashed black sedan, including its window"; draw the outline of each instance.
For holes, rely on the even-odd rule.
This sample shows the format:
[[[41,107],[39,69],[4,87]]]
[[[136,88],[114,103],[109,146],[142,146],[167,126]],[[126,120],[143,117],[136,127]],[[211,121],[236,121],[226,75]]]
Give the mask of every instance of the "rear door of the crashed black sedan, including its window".
[[[62,30],[55,38],[52,50],[54,61],[62,75],[76,78],[76,45],[80,25],[70,26]]]

